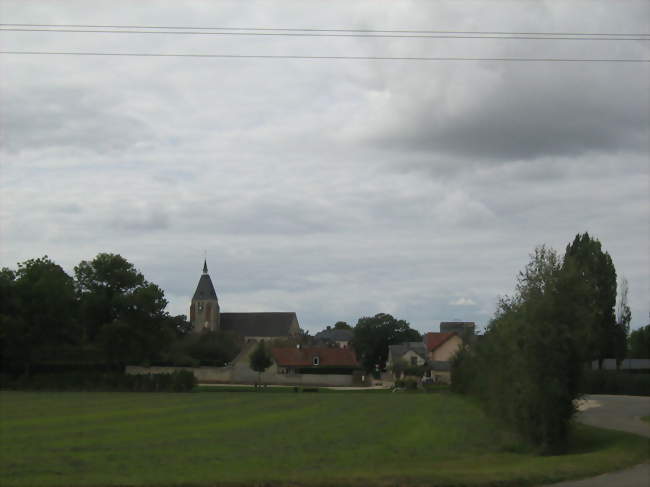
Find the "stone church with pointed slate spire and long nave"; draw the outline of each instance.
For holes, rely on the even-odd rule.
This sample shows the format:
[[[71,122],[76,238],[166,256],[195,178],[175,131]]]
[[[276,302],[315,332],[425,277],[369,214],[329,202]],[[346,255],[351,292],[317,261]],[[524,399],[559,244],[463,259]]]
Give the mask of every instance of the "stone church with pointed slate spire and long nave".
[[[203,262],[203,273],[190,304],[190,322],[195,333],[230,331],[243,337],[246,342],[287,339],[300,333],[298,317],[294,312],[222,313],[207,261]]]

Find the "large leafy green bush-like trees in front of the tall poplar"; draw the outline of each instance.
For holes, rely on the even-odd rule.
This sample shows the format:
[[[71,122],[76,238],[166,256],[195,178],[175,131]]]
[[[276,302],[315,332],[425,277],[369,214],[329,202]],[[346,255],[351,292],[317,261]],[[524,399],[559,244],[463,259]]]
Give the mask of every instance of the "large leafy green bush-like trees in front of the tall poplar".
[[[502,298],[486,334],[452,361],[457,392],[479,397],[541,452],[565,451],[578,396],[578,337],[590,323],[589,302],[573,267],[535,249],[517,292]]]

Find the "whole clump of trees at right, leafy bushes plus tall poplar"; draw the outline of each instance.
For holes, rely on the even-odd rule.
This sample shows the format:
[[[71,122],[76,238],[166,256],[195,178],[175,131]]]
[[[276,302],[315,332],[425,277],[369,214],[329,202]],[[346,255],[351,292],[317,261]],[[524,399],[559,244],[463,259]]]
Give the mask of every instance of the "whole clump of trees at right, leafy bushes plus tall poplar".
[[[454,358],[452,388],[541,451],[564,451],[585,364],[627,351],[631,313],[627,292],[617,312],[616,283],[610,255],[588,233],[563,257],[536,248],[485,334]]]

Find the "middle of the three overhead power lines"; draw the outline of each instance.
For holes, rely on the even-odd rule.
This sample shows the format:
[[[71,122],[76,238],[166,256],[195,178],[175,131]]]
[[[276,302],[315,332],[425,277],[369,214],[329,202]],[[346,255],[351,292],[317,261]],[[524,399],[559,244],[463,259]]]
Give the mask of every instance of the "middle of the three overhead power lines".
[[[2,24],[0,24],[2,25]],[[534,39],[544,41],[650,41],[650,37],[548,37],[546,35],[461,35],[461,34],[341,34],[314,32],[227,32],[198,30],[108,30],[108,29],[59,29],[0,27],[0,32],[55,32],[78,34],[163,34],[163,35],[217,35],[217,36],[272,36],[272,37],[358,37],[401,39]]]

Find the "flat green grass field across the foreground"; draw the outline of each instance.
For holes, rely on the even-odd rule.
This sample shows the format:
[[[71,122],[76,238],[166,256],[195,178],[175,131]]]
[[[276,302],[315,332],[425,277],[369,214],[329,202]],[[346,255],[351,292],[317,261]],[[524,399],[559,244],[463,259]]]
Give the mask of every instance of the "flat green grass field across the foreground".
[[[588,427],[539,457],[446,393],[2,392],[0,408],[4,487],[532,485],[648,457]]]

